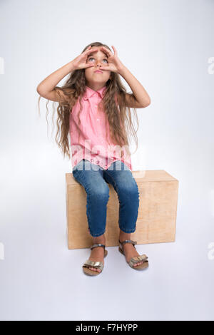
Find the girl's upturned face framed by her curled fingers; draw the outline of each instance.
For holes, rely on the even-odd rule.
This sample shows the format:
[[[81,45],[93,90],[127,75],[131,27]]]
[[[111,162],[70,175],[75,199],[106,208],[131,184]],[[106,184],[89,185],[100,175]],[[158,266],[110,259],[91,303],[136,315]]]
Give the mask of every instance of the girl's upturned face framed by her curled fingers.
[[[87,83],[104,85],[111,77],[111,71],[95,72],[100,66],[108,65],[108,56],[100,48],[88,55],[86,63],[93,65],[91,68],[85,68],[86,85]]]

